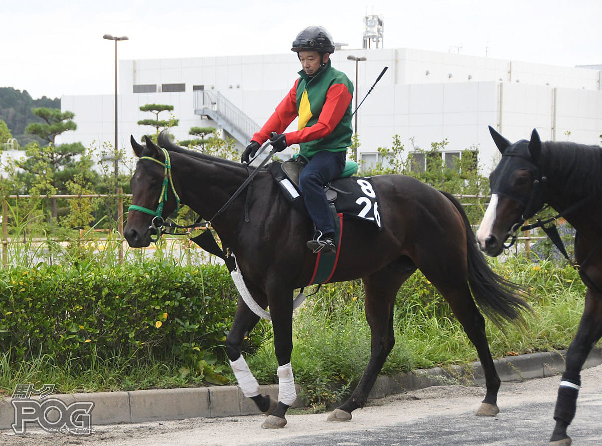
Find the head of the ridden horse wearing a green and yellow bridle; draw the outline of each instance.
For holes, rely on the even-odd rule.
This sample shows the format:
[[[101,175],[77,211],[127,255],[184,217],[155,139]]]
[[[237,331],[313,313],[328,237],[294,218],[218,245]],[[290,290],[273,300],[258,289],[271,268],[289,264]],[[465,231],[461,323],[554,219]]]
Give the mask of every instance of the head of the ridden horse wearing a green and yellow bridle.
[[[173,183],[166,168],[167,151],[146,138],[146,147],[138,144],[131,136],[130,141],[138,164],[129,185],[132,189],[132,206],[129,208],[128,223],[123,230],[125,239],[132,248],[151,244],[151,236],[157,234],[158,219],[165,218],[177,207]],[[167,164],[170,164],[169,155]]]

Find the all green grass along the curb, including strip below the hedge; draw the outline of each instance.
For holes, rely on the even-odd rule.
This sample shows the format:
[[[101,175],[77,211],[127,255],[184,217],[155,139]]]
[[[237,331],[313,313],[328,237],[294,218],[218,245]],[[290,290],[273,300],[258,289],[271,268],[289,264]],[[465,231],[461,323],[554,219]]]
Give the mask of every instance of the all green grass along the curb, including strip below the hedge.
[[[62,261],[116,264],[117,244],[108,241],[102,249],[92,244],[60,249]],[[167,258],[163,242],[154,257]],[[32,263],[33,245],[23,245],[11,253],[9,263]],[[173,247],[172,247],[173,249]],[[179,251],[179,261],[190,261]],[[22,256],[22,257],[20,257]],[[140,250],[127,250],[125,257],[143,261]],[[486,322],[486,331],[494,357],[527,352],[565,349],[574,337],[583,311],[585,286],[569,266],[549,261],[533,263],[524,257],[509,258],[504,263],[491,261],[492,267],[530,291],[534,314],[527,314],[527,328],[508,325],[504,331]],[[340,399],[355,386],[370,356],[370,329],[364,316],[364,295],[360,281],[323,286],[317,295],[297,311],[294,317],[293,369],[303,396],[315,410]],[[382,373],[395,374],[416,368],[447,367],[476,361],[474,346],[449,307],[432,285],[415,273],[404,284],[394,309],[396,345]],[[167,358],[167,359],[166,359]],[[223,358],[223,356],[222,356]],[[55,384],[57,391],[117,391],[147,388],[173,388],[203,385],[202,376],[187,373],[181,361],[169,356],[161,359],[126,357],[120,352],[101,358],[95,354],[58,362],[51,355],[28,361],[11,362],[0,355],[0,393],[10,394],[17,383]],[[247,362],[260,383],[276,383],[278,363],[273,340],[266,339]],[[85,366],[82,364],[86,364]],[[226,361],[215,371],[235,383]]]

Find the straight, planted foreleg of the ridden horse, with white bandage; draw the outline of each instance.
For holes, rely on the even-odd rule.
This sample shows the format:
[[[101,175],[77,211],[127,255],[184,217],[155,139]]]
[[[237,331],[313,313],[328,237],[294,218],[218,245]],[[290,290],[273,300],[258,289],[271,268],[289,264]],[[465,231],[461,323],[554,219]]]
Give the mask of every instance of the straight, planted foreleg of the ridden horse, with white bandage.
[[[285,415],[297,399],[291,352],[293,352],[293,290],[273,284],[268,302],[274,328],[274,348],[278,359],[278,406],[262,424],[264,429],[279,429],[287,424]]]

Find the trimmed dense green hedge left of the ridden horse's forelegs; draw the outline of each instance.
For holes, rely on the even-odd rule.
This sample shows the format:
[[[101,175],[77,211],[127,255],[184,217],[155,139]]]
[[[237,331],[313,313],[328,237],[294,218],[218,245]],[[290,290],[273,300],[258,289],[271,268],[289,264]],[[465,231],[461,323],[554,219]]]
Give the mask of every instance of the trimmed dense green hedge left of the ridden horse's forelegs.
[[[0,271],[0,349],[12,361],[223,353],[238,293],[223,266],[151,260]],[[246,346],[255,350],[263,333]]]

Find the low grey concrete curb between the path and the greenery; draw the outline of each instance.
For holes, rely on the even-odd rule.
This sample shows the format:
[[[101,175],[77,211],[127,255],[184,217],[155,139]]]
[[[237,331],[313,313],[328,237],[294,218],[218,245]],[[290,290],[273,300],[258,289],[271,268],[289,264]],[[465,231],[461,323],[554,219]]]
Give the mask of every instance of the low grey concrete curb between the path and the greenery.
[[[503,382],[554,376],[564,370],[565,352],[542,352],[496,359],[495,368]],[[583,368],[602,364],[602,350],[592,349]],[[394,376],[379,376],[370,399],[404,393],[434,385],[450,383],[481,384],[485,382],[479,362],[468,367],[452,366],[416,370]],[[262,394],[278,399],[278,385],[259,386]],[[299,388],[297,388],[299,393]],[[99,392],[52,395],[67,406],[76,401],[93,401],[93,424],[140,423],[143,421],[183,420],[193,417],[231,417],[260,414],[252,400],[244,397],[238,386],[211,386],[184,389],[137,390],[131,392]],[[302,407],[300,398],[293,407]],[[11,429],[14,423],[11,398],[0,400],[0,429]]]

